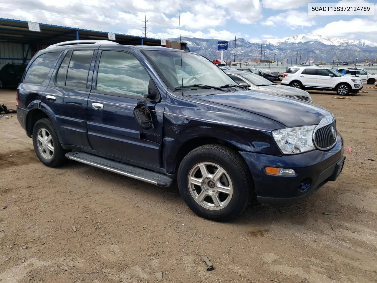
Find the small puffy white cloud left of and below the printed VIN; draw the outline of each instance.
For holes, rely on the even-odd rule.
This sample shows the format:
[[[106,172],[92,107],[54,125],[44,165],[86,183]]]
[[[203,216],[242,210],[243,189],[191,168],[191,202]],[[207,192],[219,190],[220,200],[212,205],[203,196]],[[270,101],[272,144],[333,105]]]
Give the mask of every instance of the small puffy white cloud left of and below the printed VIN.
[[[280,13],[271,16],[262,22],[262,25],[266,26],[280,26],[285,25],[290,29],[302,28],[304,26],[314,26],[316,22],[311,20],[312,16],[308,15],[307,12],[301,12],[297,10],[290,10],[285,13]]]

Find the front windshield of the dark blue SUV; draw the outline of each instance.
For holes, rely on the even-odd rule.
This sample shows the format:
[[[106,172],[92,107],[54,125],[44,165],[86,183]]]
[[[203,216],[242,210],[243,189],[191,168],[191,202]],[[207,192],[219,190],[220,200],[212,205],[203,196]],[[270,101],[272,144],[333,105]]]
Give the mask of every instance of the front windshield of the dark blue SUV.
[[[162,79],[175,89],[190,85],[224,86],[233,84],[233,80],[206,58],[187,52],[145,51],[147,57],[156,65]],[[182,67],[181,67],[182,54]],[[182,77],[183,71],[183,77]]]

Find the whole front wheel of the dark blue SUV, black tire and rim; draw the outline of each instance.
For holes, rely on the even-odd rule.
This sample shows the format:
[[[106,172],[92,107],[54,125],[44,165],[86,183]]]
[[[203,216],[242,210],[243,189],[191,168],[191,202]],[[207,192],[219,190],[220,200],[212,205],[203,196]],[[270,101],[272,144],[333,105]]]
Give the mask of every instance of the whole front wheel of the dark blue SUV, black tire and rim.
[[[183,158],[178,187],[195,214],[223,222],[244,211],[253,182],[247,165],[236,152],[211,144],[200,146]]]

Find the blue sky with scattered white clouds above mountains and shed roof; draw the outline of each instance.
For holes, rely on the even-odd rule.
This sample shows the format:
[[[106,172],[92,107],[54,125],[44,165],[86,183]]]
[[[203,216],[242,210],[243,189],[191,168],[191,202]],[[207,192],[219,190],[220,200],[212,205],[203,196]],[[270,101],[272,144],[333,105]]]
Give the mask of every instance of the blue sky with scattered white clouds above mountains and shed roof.
[[[147,37],[179,36],[258,41],[315,32],[330,38],[377,42],[374,16],[308,15],[308,3],[370,0],[0,0],[0,17]],[[377,5],[376,5],[377,8]]]

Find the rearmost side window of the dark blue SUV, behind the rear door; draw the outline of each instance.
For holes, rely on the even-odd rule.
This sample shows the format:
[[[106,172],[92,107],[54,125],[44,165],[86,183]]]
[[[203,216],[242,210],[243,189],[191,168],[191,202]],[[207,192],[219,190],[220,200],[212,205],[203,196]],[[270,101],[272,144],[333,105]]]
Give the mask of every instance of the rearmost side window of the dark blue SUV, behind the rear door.
[[[30,65],[23,82],[43,83],[58,58],[59,52],[43,53],[38,56]]]

